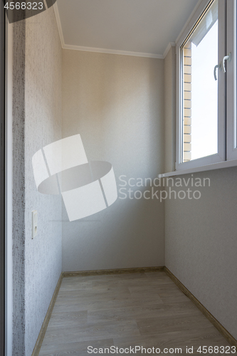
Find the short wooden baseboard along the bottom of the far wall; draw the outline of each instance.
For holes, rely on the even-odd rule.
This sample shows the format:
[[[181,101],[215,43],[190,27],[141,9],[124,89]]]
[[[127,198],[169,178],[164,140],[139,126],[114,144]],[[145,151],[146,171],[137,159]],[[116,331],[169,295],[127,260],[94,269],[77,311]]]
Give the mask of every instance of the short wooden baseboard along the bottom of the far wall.
[[[157,272],[157,271],[164,271],[164,266],[162,266],[162,267],[100,269],[100,270],[96,270],[96,271],[63,272],[63,277],[102,276],[104,274],[144,273],[144,272]]]

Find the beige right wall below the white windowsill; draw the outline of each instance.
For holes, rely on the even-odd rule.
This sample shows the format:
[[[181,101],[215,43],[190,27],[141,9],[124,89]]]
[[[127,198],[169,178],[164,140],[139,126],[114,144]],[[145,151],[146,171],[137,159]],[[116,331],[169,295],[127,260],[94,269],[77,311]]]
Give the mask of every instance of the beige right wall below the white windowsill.
[[[211,187],[189,184],[179,190],[200,189],[200,199],[165,201],[165,266],[237,338],[237,168],[179,177],[209,177]]]

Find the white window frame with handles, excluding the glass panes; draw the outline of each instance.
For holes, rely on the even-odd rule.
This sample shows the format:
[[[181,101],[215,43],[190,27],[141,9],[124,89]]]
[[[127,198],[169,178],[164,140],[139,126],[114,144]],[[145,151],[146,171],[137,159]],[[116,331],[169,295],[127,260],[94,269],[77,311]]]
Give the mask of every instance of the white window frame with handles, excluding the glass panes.
[[[181,46],[186,41],[189,33],[194,28],[195,24],[199,21],[200,17],[206,9],[209,9],[211,3],[210,0],[202,0],[199,6],[191,16],[189,23],[181,33],[179,40],[177,41],[177,150],[176,150],[176,164],[175,169],[182,171],[186,169],[194,169],[196,167],[204,167],[212,164],[218,164],[226,162],[227,159],[237,158],[236,147],[236,120],[233,120],[236,115],[236,80],[233,73],[236,73],[236,51],[233,51],[234,44],[236,43],[236,36],[233,35],[233,24],[236,21],[236,11],[233,11],[236,6],[234,0],[219,0],[218,1],[218,63],[220,64],[223,57],[227,52],[231,52],[232,59],[230,63],[226,63],[226,74],[222,70],[218,70],[218,153],[216,155],[210,155],[207,157],[201,157],[199,159],[193,159],[189,162],[181,162],[182,157],[182,63],[181,63]],[[233,15],[235,14],[235,15]],[[226,33],[226,21],[228,21],[228,28]],[[234,38],[235,37],[235,38]],[[226,41],[228,38],[228,41]],[[226,83],[228,83],[226,88]],[[227,97],[226,100],[226,90]],[[228,110],[226,110],[228,108]],[[234,122],[234,123],[233,123]],[[234,127],[233,127],[234,125]],[[235,135],[233,135],[235,132]],[[227,138],[226,138],[227,137]],[[227,142],[226,142],[227,140]],[[227,155],[227,156],[226,156]],[[235,164],[237,165],[237,163]]]

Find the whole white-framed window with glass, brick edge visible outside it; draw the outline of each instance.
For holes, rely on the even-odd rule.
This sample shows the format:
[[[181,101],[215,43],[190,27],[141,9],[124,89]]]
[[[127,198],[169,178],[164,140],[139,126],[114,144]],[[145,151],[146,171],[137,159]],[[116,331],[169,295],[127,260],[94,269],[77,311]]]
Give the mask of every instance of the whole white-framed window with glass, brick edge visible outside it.
[[[237,159],[236,1],[201,1],[177,43],[176,169]]]

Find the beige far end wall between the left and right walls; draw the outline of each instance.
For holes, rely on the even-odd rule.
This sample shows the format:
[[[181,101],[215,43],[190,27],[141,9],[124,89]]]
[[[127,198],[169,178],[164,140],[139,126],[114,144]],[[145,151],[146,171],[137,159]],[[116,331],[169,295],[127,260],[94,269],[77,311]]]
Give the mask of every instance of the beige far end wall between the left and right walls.
[[[63,137],[77,133],[89,160],[112,163],[117,185],[120,175],[157,177],[164,171],[164,61],[63,50]],[[164,265],[157,199],[117,199],[88,218],[69,223],[64,211],[63,219],[63,271]]]

